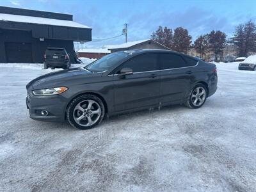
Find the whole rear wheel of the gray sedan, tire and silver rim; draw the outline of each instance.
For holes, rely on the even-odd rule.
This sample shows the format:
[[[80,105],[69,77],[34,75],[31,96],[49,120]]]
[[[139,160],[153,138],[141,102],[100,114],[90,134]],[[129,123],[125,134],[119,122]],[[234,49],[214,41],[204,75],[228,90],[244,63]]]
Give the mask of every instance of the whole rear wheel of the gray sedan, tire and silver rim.
[[[201,108],[207,99],[207,95],[208,95],[208,90],[205,87],[205,85],[198,83],[189,92],[185,105],[188,108],[192,108],[192,109]]]

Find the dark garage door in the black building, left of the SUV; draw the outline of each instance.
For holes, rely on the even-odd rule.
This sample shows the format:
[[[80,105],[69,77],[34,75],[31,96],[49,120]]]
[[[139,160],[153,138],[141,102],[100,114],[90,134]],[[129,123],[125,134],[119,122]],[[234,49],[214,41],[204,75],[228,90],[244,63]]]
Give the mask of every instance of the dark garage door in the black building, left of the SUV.
[[[32,63],[32,49],[29,43],[5,43],[8,63]]]

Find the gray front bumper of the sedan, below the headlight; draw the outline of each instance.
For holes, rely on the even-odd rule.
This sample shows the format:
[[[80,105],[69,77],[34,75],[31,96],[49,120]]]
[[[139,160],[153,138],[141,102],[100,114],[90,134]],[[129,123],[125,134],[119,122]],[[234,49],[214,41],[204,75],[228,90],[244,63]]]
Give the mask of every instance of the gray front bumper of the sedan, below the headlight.
[[[29,116],[33,120],[46,122],[65,120],[67,99],[61,95],[35,96],[31,93],[26,97],[26,105],[29,109]],[[42,115],[42,110],[46,110],[48,115]]]

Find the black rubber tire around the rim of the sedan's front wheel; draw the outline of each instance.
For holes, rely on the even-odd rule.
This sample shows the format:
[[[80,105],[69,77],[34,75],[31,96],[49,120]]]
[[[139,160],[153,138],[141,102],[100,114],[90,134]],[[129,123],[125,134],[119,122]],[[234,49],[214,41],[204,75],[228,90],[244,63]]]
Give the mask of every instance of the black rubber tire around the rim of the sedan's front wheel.
[[[81,102],[86,102],[84,100],[93,100],[94,102],[97,102],[97,104],[99,104],[99,107],[100,107],[99,119],[97,121],[95,121],[95,123],[93,123],[92,125],[79,125],[79,124],[77,124],[76,120],[74,119],[74,113],[76,113],[75,108],[76,108],[77,104],[79,104]],[[76,97],[75,99],[73,99],[70,102],[70,104],[68,105],[68,108],[67,108],[67,120],[72,127],[75,127],[77,129],[84,130],[84,129],[91,129],[91,128],[95,127],[96,125],[100,124],[100,122],[104,118],[104,115],[105,115],[104,104],[103,104],[102,100],[99,99],[99,97],[96,97],[95,95],[89,95],[89,94],[87,95],[86,94],[86,95],[81,95],[79,97]],[[91,117],[93,118],[93,115],[90,115],[90,118]],[[84,116],[84,118],[86,118],[86,120],[88,120],[88,118],[86,116]]]

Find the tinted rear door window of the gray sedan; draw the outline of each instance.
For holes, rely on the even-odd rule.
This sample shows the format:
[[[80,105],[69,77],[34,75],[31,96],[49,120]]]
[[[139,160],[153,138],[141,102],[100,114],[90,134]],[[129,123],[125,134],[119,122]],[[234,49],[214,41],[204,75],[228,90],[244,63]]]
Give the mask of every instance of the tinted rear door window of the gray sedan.
[[[186,61],[178,54],[161,54],[161,69],[188,67]]]

